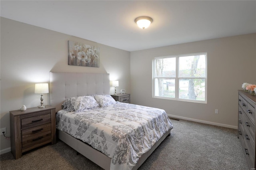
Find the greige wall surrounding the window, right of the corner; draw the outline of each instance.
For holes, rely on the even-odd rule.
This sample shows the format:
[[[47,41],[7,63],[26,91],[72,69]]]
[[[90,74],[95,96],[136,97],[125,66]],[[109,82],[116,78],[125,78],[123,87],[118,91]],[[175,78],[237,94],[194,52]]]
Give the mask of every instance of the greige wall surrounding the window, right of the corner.
[[[208,54],[207,104],[152,98],[153,57],[200,52]],[[256,34],[133,51],[130,61],[132,103],[164,109],[176,118],[237,128],[237,90],[244,82],[256,84]]]

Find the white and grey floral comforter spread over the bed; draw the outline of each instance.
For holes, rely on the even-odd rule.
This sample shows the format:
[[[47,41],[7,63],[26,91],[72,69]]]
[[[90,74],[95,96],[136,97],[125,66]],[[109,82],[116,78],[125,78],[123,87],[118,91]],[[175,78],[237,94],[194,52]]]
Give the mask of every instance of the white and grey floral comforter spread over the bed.
[[[112,158],[111,170],[132,169],[172,129],[164,110],[120,102],[75,114],[61,110],[56,121],[57,129]]]

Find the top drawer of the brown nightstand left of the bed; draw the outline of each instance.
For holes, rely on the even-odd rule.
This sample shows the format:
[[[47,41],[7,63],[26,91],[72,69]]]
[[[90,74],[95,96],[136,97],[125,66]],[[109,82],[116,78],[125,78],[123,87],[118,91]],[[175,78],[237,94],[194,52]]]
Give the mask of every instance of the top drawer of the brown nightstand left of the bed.
[[[51,122],[51,113],[21,119],[21,128],[29,128]]]

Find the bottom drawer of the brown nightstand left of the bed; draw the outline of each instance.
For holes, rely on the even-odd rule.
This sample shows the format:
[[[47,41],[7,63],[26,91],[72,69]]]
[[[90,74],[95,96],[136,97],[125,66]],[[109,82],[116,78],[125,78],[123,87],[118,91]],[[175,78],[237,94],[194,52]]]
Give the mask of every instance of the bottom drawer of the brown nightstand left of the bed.
[[[43,132],[40,134],[32,135],[27,138],[22,139],[22,148],[34,145],[38,142],[43,142],[45,140],[48,140],[51,142],[51,131]]]

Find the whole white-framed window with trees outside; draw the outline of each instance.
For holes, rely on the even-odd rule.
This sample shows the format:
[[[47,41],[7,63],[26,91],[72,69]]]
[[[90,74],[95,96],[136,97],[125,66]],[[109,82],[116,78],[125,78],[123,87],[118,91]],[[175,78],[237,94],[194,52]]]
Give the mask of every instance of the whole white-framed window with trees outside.
[[[206,103],[207,53],[153,58],[153,97]]]

